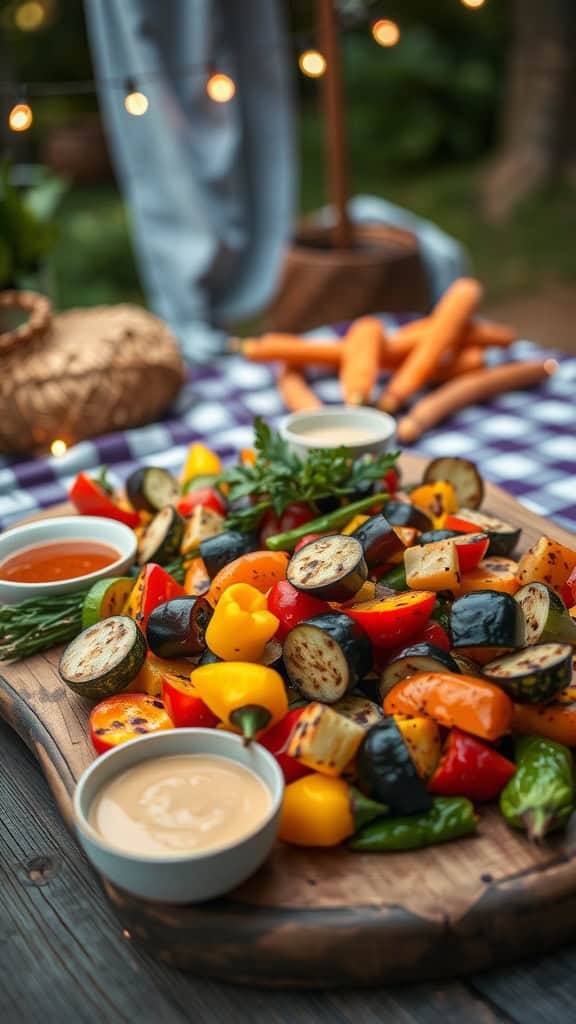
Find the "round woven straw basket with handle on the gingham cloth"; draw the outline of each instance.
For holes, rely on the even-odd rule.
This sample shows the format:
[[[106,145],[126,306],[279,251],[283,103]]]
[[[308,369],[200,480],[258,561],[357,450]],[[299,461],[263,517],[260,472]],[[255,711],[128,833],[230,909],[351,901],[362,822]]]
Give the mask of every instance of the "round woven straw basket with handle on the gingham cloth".
[[[46,300],[37,298],[45,310]],[[48,317],[41,331],[24,326],[11,335],[11,342],[8,332],[0,335],[2,453],[46,451],[56,437],[72,444],[150,423],[184,379],[168,328],[138,306],[71,309]]]

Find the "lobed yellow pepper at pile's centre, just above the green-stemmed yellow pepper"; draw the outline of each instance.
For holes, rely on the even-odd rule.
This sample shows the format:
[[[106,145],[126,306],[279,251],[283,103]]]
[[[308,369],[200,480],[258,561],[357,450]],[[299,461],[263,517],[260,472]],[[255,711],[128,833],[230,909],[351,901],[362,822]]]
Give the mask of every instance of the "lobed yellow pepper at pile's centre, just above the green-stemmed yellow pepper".
[[[279,626],[264,594],[250,584],[235,583],[216,604],[206,643],[224,662],[259,662]]]

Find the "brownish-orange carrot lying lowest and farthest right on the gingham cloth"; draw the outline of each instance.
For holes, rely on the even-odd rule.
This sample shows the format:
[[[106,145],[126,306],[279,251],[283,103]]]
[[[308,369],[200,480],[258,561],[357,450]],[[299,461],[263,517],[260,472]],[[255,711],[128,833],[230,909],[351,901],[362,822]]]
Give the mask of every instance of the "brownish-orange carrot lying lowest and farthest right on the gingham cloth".
[[[425,430],[436,427],[446,417],[465,406],[486,401],[503,391],[534,387],[558,369],[556,359],[543,362],[506,362],[477,373],[464,374],[444,384],[416,402],[398,425],[398,439],[403,444],[418,440]]]

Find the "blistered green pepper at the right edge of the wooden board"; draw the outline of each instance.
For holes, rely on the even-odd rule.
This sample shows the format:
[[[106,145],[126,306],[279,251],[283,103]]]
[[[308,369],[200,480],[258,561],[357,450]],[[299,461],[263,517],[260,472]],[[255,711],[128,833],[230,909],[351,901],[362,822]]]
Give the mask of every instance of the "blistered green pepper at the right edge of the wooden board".
[[[517,743],[518,768],[500,794],[500,810],[512,828],[542,839],[562,828],[574,810],[572,755],[544,736],[522,736]]]

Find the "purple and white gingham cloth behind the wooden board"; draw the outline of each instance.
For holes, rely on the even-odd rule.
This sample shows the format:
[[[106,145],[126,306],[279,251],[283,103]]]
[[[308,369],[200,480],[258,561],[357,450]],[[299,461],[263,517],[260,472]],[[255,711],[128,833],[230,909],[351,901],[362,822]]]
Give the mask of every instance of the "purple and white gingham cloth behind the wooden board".
[[[394,330],[406,317],[382,319]],[[332,331],[339,336],[343,326]],[[310,337],[315,335],[326,337],[327,331]],[[527,508],[576,529],[576,357],[519,341],[508,351],[489,350],[487,361],[539,356],[554,356],[560,364],[540,387],[462,410],[407,451],[471,459],[487,479]],[[340,400],[334,376],[313,376],[325,402]],[[65,501],[80,470],[107,465],[118,483],[139,465],[177,472],[192,441],[203,441],[230,462],[239,449],[252,444],[255,416],[275,425],[285,413],[266,366],[229,356],[194,369],[176,404],[159,423],[83,441],[59,458],[0,459],[0,527]]]

